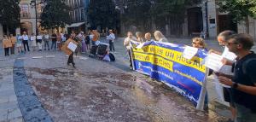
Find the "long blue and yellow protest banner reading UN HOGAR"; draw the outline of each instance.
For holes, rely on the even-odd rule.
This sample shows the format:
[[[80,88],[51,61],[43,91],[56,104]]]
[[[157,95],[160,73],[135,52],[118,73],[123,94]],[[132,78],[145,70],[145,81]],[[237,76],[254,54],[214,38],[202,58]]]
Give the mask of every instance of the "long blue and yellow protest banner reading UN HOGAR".
[[[184,45],[147,42],[143,48],[131,42],[133,67],[137,72],[145,73],[151,78],[164,82],[197,105],[205,82],[206,67],[201,61],[207,51],[199,49],[197,54],[188,60],[183,57]]]

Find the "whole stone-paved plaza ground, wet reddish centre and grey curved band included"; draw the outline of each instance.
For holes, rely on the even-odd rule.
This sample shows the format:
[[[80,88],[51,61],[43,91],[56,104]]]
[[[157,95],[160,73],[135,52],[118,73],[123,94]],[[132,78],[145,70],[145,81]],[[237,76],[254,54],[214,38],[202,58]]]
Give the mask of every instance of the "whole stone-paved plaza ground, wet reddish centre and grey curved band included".
[[[60,51],[0,56],[0,121],[205,122],[230,117],[218,102],[212,101],[207,112],[197,111],[165,84],[131,71],[122,40],[115,42],[117,61],[79,55],[76,69],[67,66]],[[219,49],[214,42],[208,45]]]

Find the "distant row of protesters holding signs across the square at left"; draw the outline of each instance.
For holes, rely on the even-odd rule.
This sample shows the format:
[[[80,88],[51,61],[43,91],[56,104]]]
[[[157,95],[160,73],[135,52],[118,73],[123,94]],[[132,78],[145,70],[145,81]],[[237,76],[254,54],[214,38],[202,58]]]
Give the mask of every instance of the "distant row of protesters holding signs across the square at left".
[[[28,51],[43,51],[43,50],[61,50],[61,46],[67,41],[68,38],[78,42],[78,49],[76,55],[79,53],[86,53],[90,51],[90,46],[96,45],[99,42],[100,33],[96,30],[89,32],[74,32],[67,34],[67,32],[54,32],[49,35],[48,32],[38,32],[36,35],[27,35],[26,32],[18,33],[16,36],[13,34],[3,36],[3,48],[5,56],[14,55],[16,53],[26,53]],[[109,45],[110,49],[114,50],[113,40],[114,34],[109,30]],[[9,54],[10,52],[10,54]]]

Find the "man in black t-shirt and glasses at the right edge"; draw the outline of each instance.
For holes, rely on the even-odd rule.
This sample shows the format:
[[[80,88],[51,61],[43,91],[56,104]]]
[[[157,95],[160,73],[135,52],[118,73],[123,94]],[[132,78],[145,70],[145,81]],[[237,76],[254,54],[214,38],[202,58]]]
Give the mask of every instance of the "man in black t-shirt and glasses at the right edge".
[[[256,121],[256,54],[250,51],[253,38],[247,34],[230,36],[228,48],[238,55],[235,75],[229,78],[218,75],[220,83],[231,86],[236,107],[236,122]]]

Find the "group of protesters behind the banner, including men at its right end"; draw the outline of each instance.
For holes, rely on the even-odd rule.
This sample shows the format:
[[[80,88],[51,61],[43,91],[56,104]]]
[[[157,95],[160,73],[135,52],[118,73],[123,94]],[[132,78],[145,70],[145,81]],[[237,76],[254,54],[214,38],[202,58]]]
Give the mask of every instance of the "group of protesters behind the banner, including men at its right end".
[[[154,39],[151,38],[150,32],[145,33],[143,38],[142,32],[136,32],[136,38],[132,32],[127,32],[124,46],[130,56],[130,41],[144,43],[147,41],[168,42],[165,36],[160,32],[154,32]],[[255,122],[256,121],[256,55],[251,50],[254,41],[253,38],[244,33],[233,31],[224,31],[217,37],[218,43],[224,47],[224,52],[218,52],[213,49],[207,49],[203,38],[192,38],[191,46],[198,49],[207,49],[208,54],[215,53],[222,55],[229,52],[236,55],[234,61],[227,58],[222,59],[224,67],[219,72],[214,72],[221,84],[230,86],[224,87],[224,101],[230,102],[230,111],[235,122]],[[130,65],[132,67],[132,65]],[[206,96],[207,99],[207,96]],[[205,102],[207,104],[207,102]]]

